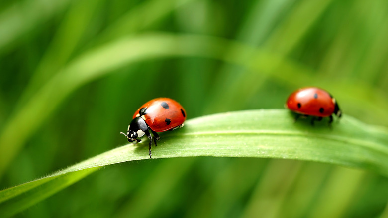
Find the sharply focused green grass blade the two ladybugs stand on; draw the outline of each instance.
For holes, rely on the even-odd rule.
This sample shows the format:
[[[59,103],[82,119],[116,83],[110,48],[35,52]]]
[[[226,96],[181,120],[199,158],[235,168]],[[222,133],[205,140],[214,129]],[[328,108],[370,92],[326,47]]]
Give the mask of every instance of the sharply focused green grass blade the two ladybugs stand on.
[[[294,123],[286,109],[213,114],[187,120],[182,129],[161,133],[152,158],[258,157],[318,161],[388,176],[388,129],[344,115],[311,126]],[[125,138],[123,137],[123,141]],[[148,159],[148,140],[124,145],[50,176],[0,192],[0,216],[9,216],[77,182],[101,166]]]

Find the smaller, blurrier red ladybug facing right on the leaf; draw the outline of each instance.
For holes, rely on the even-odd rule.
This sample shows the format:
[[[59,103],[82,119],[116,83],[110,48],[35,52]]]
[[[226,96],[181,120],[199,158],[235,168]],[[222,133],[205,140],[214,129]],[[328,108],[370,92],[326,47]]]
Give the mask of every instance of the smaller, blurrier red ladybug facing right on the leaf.
[[[333,113],[341,117],[341,110],[335,98],[327,91],[316,87],[294,91],[287,99],[286,107],[297,114],[295,121],[300,116],[312,116],[312,125],[315,119],[321,121],[323,117],[329,117],[329,123],[333,122]]]

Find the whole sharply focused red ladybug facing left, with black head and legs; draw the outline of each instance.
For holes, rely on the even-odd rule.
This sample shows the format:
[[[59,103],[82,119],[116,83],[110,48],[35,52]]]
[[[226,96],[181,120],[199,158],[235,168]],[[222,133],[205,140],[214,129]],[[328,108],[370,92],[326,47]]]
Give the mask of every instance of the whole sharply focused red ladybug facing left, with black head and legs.
[[[140,142],[140,138],[146,135],[150,139],[148,145],[151,158],[152,134],[154,135],[155,146],[156,140],[160,140],[158,133],[167,130],[174,130],[184,126],[186,120],[185,109],[176,101],[169,98],[153,99],[133,114],[132,121],[128,125],[127,134],[120,132],[128,138],[128,142]]]

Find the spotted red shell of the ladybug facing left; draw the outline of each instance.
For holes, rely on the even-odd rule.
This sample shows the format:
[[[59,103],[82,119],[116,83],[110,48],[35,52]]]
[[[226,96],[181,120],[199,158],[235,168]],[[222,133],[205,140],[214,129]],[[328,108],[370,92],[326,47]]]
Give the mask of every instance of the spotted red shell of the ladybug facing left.
[[[142,108],[146,108],[142,118],[155,132],[173,129],[186,120],[185,109],[181,104],[169,98],[157,98],[145,103],[136,110],[133,118],[140,115],[139,111]]]

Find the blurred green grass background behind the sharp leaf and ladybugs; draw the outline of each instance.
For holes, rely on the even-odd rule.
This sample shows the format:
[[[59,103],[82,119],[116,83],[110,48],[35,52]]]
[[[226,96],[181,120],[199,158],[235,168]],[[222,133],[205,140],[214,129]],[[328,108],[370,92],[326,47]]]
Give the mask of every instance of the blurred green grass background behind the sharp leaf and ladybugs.
[[[291,91],[320,86],[343,113],[388,127],[387,24],[387,0],[0,1],[0,146],[15,154],[1,166],[0,189],[126,144],[118,133],[156,97],[177,100],[190,119],[283,108]],[[135,56],[163,50],[161,32],[193,36],[193,47],[224,46],[139,57],[74,87],[64,81],[54,87],[63,95],[58,101],[38,112],[30,107],[80,57],[125,37],[155,37],[135,46]],[[246,49],[236,51],[236,44]],[[97,68],[120,55],[106,54]],[[80,80],[82,72],[74,75]],[[28,119],[13,122],[23,111]],[[20,131],[8,134],[10,123]],[[388,218],[387,201],[388,179],[370,172],[291,160],[176,158],[105,167],[16,217]]]

